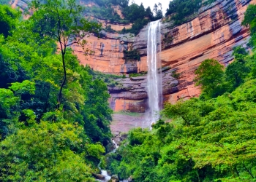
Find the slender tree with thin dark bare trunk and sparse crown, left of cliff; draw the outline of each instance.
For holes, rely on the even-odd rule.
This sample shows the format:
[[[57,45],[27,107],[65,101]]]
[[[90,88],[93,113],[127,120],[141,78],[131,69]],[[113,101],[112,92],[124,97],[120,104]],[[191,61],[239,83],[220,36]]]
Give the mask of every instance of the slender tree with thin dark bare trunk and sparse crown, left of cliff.
[[[64,76],[57,98],[57,108],[61,104],[61,94],[67,80],[65,55],[67,47],[72,44],[86,44],[89,33],[99,33],[101,25],[89,22],[83,17],[83,8],[75,0],[49,0],[45,4],[32,1],[29,6],[30,19],[33,20],[33,31],[48,36],[59,42]],[[89,50],[85,50],[86,54]]]

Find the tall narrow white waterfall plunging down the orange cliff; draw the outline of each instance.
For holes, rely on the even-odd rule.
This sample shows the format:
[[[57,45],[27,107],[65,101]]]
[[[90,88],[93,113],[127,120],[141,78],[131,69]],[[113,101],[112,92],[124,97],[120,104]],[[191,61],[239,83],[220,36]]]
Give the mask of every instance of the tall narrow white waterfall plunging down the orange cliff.
[[[161,23],[157,20],[151,22],[148,27],[148,116],[146,120],[150,126],[159,119],[159,111],[162,107],[162,71],[159,52],[161,52]]]

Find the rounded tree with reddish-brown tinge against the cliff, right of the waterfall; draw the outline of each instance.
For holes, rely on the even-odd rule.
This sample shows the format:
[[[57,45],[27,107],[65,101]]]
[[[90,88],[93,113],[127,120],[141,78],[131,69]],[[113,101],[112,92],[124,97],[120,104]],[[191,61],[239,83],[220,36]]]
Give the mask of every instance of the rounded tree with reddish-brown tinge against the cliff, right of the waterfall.
[[[217,60],[207,59],[195,71],[196,85],[200,85],[203,92],[210,97],[222,94],[221,84],[224,76],[224,66]]]

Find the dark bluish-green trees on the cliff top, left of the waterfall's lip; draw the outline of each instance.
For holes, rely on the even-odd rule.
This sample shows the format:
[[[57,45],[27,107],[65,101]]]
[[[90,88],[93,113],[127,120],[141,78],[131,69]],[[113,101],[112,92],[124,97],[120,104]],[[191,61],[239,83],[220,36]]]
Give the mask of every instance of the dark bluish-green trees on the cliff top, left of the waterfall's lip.
[[[138,5],[132,3],[129,5],[129,0],[94,0],[94,2],[99,5],[99,7],[87,7],[86,14],[110,20],[111,23],[132,23],[132,28],[124,28],[119,33],[138,34],[141,28],[148,24],[148,22],[159,20],[163,17],[161,4],[155,4],[152,12],[150,7],[145,8],[143,4]],[[124,18],[118,15],[113,5],[120,6]],[[110,28],[107,30],[113,32]]]

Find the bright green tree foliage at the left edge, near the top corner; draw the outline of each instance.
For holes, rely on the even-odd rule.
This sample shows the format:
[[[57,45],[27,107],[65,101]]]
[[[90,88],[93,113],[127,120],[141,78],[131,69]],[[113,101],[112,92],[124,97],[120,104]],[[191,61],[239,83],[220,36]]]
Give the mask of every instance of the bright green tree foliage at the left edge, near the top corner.
[[[0,4],[5,3],[6,2],[4,1],[0,1]],[[15,29],[15,26],[18,23],[20,15],[20,12],[7,5],[0,6],[0,34],[3,34],[4,37],[10,35],[11,31]]]

